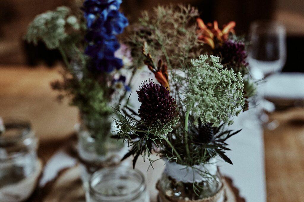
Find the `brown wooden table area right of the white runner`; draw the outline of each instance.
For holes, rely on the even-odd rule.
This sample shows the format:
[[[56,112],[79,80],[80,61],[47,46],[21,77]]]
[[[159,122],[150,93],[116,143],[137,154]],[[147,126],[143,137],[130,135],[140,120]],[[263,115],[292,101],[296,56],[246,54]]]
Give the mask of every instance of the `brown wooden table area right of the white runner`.
[[[267,201],[304,201],[304,109],[276,112],[264,131]]]

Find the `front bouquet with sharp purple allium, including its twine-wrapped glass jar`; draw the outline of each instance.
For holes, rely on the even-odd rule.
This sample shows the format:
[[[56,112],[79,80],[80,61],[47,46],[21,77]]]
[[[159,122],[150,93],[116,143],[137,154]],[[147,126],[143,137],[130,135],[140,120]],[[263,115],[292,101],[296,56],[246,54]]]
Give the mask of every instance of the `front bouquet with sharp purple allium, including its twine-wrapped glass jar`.
[[[226,140],[233,116],[247,110],[255,92],[244,39],[234,22],[205,25],[191,6],[143,12],[125,39],[135,66],[152,77],[136,91],[140,108],[117,106],[117,137],[130,142],[124,159],[156,153],[166,168],[157,184],[160,201],[224,201],[216,162],[230,164]]]

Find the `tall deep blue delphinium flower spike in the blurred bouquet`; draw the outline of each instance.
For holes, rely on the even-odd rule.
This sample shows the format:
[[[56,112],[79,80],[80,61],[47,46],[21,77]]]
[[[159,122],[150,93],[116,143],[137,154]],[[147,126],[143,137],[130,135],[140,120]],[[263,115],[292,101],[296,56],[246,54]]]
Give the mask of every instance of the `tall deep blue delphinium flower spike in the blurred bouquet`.
[[[114,56],[119,49],[116,35],[129,24],[119,12],[122,0],[85,0],[82,10],[87,20],[85,54],[93,59],[89,67],[94,72],[112,72],[123,66],[123,61]]]

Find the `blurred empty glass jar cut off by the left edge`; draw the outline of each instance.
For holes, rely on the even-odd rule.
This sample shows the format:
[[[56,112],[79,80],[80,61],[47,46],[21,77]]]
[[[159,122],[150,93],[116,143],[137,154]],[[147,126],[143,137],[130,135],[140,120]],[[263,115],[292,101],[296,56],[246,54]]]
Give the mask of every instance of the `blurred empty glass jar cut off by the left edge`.
[[[26,121],[4,121],[0,135],[0,187],[16,184],[35,171],[38,140]]]

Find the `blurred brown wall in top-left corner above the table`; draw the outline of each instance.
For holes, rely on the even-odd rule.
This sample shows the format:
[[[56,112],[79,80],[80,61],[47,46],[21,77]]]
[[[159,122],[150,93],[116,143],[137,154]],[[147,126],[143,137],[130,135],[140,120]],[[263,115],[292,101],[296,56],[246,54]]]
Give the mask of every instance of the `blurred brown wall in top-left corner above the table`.
[[[22,35],[33,18],[69,0],[0,0],[0,64],[22,65],[26,58]]]

